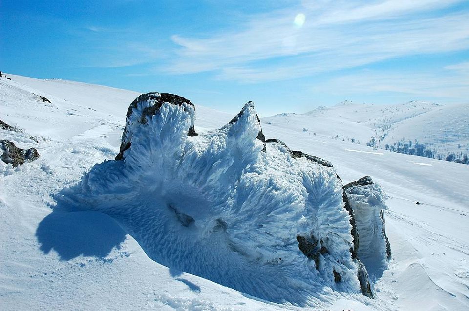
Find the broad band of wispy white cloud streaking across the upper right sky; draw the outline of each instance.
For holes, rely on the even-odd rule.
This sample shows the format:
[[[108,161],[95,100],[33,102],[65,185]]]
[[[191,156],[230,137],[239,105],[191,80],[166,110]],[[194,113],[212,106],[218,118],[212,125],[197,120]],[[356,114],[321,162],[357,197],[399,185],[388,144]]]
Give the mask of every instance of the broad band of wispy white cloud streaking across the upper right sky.
[[[311,1],[245,17],[205,38],[174,35],[172,73],[214,71],[220,79],[263,82],[362,66],[408,55],[469,48],[469,12],[437,9],[458,0]],[[294,24],[305,15],[302,27]]]

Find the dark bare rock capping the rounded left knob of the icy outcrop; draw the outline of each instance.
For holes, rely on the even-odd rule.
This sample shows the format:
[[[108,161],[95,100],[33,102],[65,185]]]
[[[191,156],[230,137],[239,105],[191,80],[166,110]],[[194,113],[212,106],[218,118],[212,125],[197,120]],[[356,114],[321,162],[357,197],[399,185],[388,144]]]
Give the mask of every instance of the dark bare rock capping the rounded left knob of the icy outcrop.
[[[146,124],[148,122],[147,118],[151,117],[155,114],[157,114],[161,108],[161,106],[167,102],[173,105],[178,105],[178,106],[183,106],[184,104],[190,105],[195,109],[194,104],[192,104],[189,99],[186,99],[182,96],[175,95],[175,94],[170,94],[170,93],[156,93],[156,92],[151,92],[151,93],[146,93],[142,94],[139,97],[135,98],[131,103],[130,106],[128,107],[127,110],[127,120],[126,120],[126,128],[124,129],[124,133],[122,135],[122,142],[121,146],[119,148],[119,154],[116,156],[116,160],[122,160],[124,159],[124,151],[126,151],[128,148],[130,148],[131,141],[125,141],[124,138],[126,137],[128,133],[128,118],[133,112],[133,109],[137,108],[137,105],[139,102],[144,102],[147,100],[152,100],[154,101],[154,104],[150,107],[147,107],[143,110],[142,112],[142,117],[140,119],[141,124]],[[189,131],[187,133],[188,136],[197,136],[198,134],[195,132],[194,126],[192,125],[189,128]]]

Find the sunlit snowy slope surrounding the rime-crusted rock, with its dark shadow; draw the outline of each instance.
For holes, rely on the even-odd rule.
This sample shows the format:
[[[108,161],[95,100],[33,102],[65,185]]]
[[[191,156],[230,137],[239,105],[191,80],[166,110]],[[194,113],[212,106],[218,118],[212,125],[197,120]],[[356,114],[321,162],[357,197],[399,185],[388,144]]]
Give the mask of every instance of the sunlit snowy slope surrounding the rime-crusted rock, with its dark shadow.
[[[154,262],[105,214],[51,213],[53,194],[115,157],[139,93],[9,77],[0,79],[0,119],[24,133],[0,130],[0,137],[37,148],[41,158],[17,169],[0,163],[1,310],[302,310]],[[196,130],[232,117],[196,106]],[[376,299],[338,296],[315,310],[468,310],[469,167],[314,136],[298,122],[264,121],[263,132],[331,161],[344,183],[372,176],[390,196],[393,257],[383,275],[374,275]]]

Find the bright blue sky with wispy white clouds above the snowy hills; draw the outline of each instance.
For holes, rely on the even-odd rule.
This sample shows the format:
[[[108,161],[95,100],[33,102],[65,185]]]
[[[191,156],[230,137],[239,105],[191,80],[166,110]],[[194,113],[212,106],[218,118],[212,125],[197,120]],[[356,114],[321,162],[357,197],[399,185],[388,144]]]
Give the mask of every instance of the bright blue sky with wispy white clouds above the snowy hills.
[[[1,0],[0,70],[261,117],[469,102],[469,1]]]

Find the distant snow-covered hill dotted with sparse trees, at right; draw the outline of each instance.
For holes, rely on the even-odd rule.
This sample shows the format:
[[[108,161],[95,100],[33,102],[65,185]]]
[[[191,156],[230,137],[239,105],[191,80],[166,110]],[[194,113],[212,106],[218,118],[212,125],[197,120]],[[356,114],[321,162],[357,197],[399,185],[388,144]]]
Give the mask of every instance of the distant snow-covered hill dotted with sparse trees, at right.
[[[469,164],[469,103],[373,105],[344,101],[303,115],[282,114],[263,121],[350,143]]]

